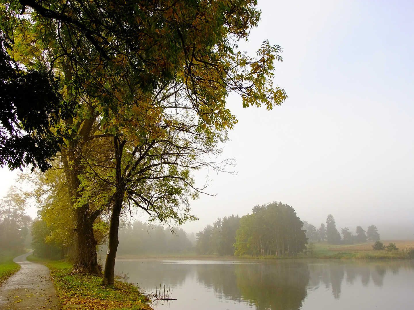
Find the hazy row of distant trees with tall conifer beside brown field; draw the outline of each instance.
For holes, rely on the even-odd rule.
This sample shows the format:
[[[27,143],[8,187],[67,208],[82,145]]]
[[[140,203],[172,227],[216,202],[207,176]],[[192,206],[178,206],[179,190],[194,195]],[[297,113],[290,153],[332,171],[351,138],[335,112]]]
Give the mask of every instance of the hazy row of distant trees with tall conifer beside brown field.
[[[380,240],[380,234],[375,225],[368,226],[366,231],[361,226],[357,226],[355,229],[356,235],[348,227],[341,228],[342,238],[336,228],[335,219],[332,214],[326,217],[326,226],[322,223],[319,229],[316,229],[315,226],[304,221],[303,229],[306,230],[306,237],[309,242],[327,240],[328,244],[354,244]]]

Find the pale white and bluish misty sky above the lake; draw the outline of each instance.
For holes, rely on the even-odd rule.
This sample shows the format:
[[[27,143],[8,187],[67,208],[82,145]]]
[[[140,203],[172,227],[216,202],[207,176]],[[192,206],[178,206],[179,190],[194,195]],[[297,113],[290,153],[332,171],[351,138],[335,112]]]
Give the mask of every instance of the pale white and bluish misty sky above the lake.
[[[262,20],[242,50],[253,56],[265,39],[284,49],[275,82],[289,99],[269,112],[230,96],[239,123],[222,159],[234,158],[238,174],[212,174],[207,190],[217,196],[193,201],[200,221],[183,229],[276,200],[315,226],[332,213],[338,230],[375,224],[385,237],[414,238],[414,2],[258,7]],[[0,176],[1,194],[12,174]],[[205,172],[196,180],[202,186]]]

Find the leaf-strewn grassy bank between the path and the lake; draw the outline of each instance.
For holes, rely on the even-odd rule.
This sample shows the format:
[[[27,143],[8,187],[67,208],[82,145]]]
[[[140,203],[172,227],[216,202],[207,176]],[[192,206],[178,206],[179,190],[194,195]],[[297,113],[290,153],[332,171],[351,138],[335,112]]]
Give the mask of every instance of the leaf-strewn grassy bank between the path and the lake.
[[[64,308],[94,310],[152,309],[148,299],[132,284],[116,281],[115,288],[101,286],[102,278],[72,272],[69,262],[41,260],[33,255],[28,260],[41,262],[51,270],[60,302]]]

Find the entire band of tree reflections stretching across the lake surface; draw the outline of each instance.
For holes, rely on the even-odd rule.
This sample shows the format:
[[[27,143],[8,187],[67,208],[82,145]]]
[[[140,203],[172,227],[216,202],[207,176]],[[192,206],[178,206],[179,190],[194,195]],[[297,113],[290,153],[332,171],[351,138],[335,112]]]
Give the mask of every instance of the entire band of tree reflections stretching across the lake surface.
[[[120,264],[122,263],[122,266]],[[414,269],[414,261],[278,260],[234,264],[165,264],[154,260],[122,261],[118,270],[144,287],[181,286],[199,281],[217,297],[253,305],[258,310],[297,310],[309,291],[324,286],[336,299],[343,285],[382,287],[387,274]],[[119,264],[119,265],[118,265]]]

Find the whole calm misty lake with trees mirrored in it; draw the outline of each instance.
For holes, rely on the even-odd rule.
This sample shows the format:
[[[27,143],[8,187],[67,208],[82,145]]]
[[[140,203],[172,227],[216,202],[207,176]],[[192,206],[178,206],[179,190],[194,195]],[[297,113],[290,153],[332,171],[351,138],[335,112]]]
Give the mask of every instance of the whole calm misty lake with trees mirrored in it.
[[[412,260],[118,259],[116,273],[169,287],[156,310],[414,309]]]

